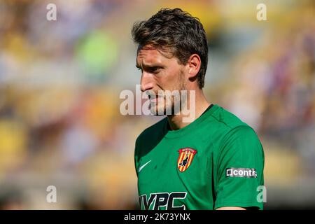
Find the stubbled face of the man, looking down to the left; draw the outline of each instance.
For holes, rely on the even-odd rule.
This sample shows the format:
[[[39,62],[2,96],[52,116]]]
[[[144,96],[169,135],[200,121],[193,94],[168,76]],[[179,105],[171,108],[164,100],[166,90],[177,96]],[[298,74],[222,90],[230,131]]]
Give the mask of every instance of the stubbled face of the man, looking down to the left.
[[[139,48],[137,53],[137,67],[141,69],[141,91],[146,92],[150,99],[150,110],[153,114],[166,114],[181,104],[181,97],[167,100],[166,90],[186,90],[185,69],[176,57],[167,52],[161,52],[151,45]],[[159,111],[162,111],[160,114]],[[175,111],[178,112],[178,111]]]

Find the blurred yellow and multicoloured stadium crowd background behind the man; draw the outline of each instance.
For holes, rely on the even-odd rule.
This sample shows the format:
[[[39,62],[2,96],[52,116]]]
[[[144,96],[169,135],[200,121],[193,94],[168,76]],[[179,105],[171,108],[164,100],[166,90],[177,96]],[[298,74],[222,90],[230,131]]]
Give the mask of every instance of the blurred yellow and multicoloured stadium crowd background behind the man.
[[[48,3],[57,21],[46,20]],[[258,3],[267,21],[256,19]],[[0,209],[138,209],[130,29],[183,8],[209,37],[205,92],[255,128],[265,209],[315,209],[314,1],[0,1]],[[46,188],[57,187],[57,203]]]

